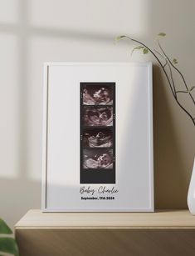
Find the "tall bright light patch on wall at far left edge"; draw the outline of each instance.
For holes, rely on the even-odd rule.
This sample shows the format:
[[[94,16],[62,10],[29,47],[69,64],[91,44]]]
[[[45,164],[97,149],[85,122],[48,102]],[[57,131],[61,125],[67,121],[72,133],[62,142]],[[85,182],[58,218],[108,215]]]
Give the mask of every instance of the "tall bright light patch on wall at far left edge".
[[[7,34],[0,34],[0,42],[0,178],[14,178],[19,158],[18,42],[15,36]]]

